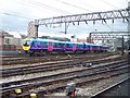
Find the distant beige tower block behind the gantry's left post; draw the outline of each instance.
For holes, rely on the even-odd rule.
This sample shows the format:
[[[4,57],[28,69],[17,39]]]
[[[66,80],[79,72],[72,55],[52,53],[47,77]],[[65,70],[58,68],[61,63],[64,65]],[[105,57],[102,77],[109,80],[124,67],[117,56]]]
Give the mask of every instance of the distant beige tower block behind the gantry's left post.
[[[28,32],[27,37],[37,37],[37,34],[36,34],[35,30],[36,30],[35,29],[35,23],[34,22],[29,22],[28,23],[28,29],[27,29],[27,32]]]

